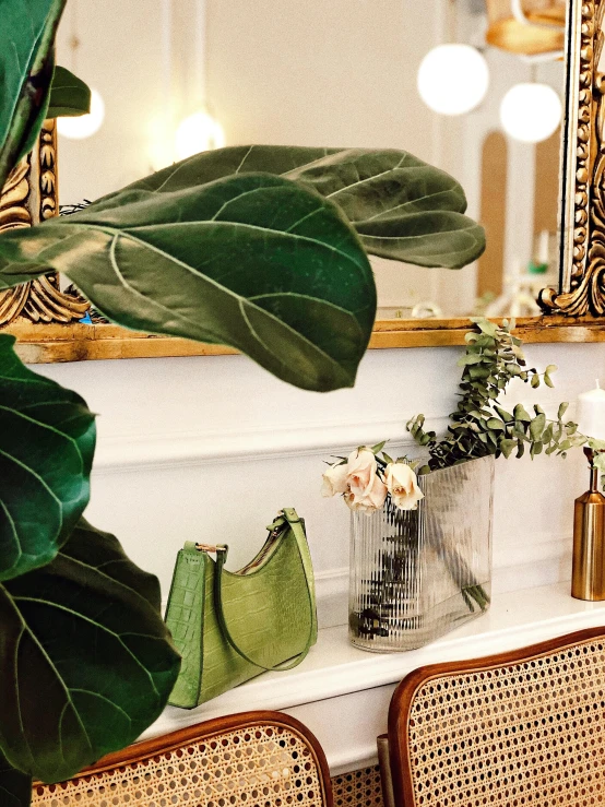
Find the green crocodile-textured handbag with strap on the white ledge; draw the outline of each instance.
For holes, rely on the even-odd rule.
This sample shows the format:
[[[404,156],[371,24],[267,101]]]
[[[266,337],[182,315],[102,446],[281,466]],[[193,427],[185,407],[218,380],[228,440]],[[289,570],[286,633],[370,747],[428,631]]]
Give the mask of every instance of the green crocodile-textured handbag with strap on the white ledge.
[[[292,669],[316,643],[305,522],[284,508],[268,530],[260,553],[237,572],[224,568],[225,545],[187,542],[179,551],[166,609],[182,655],[171,705],[192,709],[264,670]]]

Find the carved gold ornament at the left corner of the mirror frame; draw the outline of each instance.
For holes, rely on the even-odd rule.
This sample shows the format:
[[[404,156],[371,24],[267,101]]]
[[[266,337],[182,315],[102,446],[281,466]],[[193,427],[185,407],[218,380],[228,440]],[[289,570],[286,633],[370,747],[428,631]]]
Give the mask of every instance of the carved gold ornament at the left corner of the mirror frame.
[[[57,124],[45,120],[35,149],[15,166],[0,191],[0,233],[32,227],[59,215]],[[64,294],[51,273],[0,292],[0,328],[19,320],[68,324],[90,309],[82,297]]]

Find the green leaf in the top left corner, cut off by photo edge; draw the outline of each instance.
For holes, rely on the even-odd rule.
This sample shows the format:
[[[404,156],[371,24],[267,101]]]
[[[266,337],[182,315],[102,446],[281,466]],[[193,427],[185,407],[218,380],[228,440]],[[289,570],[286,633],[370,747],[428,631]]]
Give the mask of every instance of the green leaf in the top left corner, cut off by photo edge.
[[[0,0],[0,188],[46,117],[67,0]]]

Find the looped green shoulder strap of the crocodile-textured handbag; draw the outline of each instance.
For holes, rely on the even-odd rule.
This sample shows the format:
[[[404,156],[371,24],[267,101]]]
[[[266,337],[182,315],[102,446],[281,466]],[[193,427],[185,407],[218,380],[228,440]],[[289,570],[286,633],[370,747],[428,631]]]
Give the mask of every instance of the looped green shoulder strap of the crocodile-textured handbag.
[[[313,601],[311,597],[311,585],[312,580],[310,578],[310,574],[312,573],[310,571],[310,565],[306,562],[306,549],[307,549],[307,538],[305,536],[305,530],[302,527],[302,523],[300,519],[298,518],[298,514],[294,508],[284,508],[282,511],[282,515],[278,515],[273,524],[271,524],[268,529],[271,531],[272,534],[278,534],[280,532],[284,531],[284,529],[287,529],[289,526],[294,533],[294,536],[296,538],[296,544],[298,546],[298,553],[300,555],[300,562],[302,563],[302,569],[305,571],[305,580],[307,582],[307,597],[309,601],[309,610],[310,610],[310,628],[309,628],[309,636],[307,638],[307,642],[305,644],[305,648],[298,655],[294,657],[292,661],[283,662],[281,664],[276,664],[273,667],[266,667],[264,664],[260,664],[258,661],[254,661],[253,658],[250,658],[249,655],[247,655],[241,648],[237,645],[237,642],[233,638],[229,627],[227,625],[227,620],[225,618],[225,612],[223,610],[223,585],[222,585],[222,577],[223,577],[223,568],[225,566],[225,561],[227,559],[227,551],[228,547],[224,544],[216,547],[216,566],[214,568],[214,609],[216,612],[216,618],[218,620],[218,625],[221,627],[221,630],[223,631],[223,634],[227,639],[229,645],[235,650],[235,652],[240,655],[245,661],[247,661],[249,664],[253,664],[256,667],[260,667],[261,669],[264,669],[266,672],[285,672],[286,669],[293,669],[296,667],[300,662],[307,656],[309,653],[309,650],[311,649],[313,644],[313,625],[316,621],[316,615],[315,615],[315,608],[313,608]]]

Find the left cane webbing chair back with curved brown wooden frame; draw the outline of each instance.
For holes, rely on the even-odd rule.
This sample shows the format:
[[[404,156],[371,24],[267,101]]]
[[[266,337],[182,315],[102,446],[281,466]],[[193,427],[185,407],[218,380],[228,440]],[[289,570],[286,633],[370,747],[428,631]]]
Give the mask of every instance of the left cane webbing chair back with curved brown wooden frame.
[[[34,785],[33,807],[332,807],[313,735],[278,712],[247,712],[105,757],[76,778]]]

